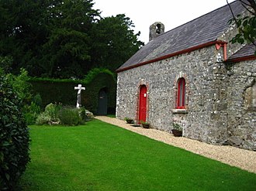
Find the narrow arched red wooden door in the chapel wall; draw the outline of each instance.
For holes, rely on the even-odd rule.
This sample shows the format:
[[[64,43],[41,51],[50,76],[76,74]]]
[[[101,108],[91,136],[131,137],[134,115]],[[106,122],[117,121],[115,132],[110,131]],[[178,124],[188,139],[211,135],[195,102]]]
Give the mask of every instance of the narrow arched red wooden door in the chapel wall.
[[[139,122],[147,118],[147,87],[140,87]]]

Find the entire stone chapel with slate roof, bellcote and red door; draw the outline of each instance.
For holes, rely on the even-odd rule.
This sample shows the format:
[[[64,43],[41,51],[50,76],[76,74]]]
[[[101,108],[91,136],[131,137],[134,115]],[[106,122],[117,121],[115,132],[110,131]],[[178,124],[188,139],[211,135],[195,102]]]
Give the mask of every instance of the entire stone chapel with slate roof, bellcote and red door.
[[[150,41],[116,70],[116,118],[170,133],[175,123],[186,138],[256,151],[255,46],[230,43],[230,7],[168,32],[150,26]]]

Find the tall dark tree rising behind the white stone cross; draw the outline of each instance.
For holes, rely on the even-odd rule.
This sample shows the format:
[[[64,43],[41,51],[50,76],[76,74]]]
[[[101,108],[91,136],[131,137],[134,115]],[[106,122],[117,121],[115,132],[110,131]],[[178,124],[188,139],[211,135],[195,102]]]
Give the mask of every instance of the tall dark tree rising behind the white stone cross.
[[[47,8],[50,35],[40,58],[45,76],[81,78],[90,69],[88,33],[99,19],[99,11],[92,5],[92,0],[65,0],[54,1]]]

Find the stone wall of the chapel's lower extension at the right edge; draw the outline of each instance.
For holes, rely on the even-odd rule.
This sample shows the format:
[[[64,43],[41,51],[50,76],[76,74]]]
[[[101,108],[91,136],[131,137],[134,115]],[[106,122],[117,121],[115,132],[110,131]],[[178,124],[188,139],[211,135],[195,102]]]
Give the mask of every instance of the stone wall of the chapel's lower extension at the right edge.
[[[228,136],[230,145],[256,151],[256,60],[228,67]]]

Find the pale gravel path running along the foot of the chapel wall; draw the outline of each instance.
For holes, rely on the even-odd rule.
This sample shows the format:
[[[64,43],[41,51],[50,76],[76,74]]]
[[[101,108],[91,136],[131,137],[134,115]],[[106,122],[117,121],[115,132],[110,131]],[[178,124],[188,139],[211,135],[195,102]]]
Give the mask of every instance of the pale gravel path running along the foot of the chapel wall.
[[[205,142],[199,142],[189,138],[177,138],[168,132],[159,131],[157,129],[133,127],[117,118],[109,118],[106,116],[98,116],[95,118],[121,128],[126,128],[140,135],[153,138],[159,142],[184,148],[187,151],[206,156],[209,159],[215,159],[228,165],[237,166],[240,169],[256,173],[256,152],[231,146],[209,145]]]

